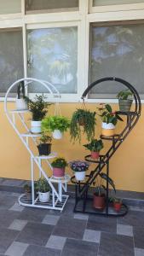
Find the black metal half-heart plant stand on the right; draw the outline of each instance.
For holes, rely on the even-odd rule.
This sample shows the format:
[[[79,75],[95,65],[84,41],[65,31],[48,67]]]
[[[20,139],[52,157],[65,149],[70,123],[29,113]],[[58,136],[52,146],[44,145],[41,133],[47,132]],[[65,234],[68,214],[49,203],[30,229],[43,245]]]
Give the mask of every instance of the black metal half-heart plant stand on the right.
[[[72,183],[75,184],[75,207],[74,212],[83,212],[89,214],[97,214],[102,216],[124,216],[128,212],[128,207],[126,205],[122,205],[121,210],[116,212],[112,207],[112,202],[109,199],[109,183],[107,181],[107,191],[106,191],[106,207],[103,210],[95,209],[93,207],[93,198],[90,195],[89,190],[91,185],[95,183],[95,179],[101,174],[104,168],[107,171],[107,177],[109,177],[109,161],[111,160],[113,154],[116,153],[119,146],[124,142],[124,139],[129,135],[130,131],[134,128],[137,121],[141,116],[141,99],[138,92],[135,88],[129,84],[128,82],[124,81],[123,79],[118,78],[104,78],[95,81],[94,83],[90,84],[89,87],[84,91],[82,99],[84,100],[85,96],[89,94],[89,91],[94,88],[96,85],[101,84],[107,81],[116,81],[120,84],[124,84],[124,86],[129,89],[133,96],[133,111],[130,112],[121,112],[118,111],[118,115],[124,116],[124,128],[120,134],[116,134],[112,137],[104,137],[101,136],[102,140],[107,140],[110,143],[110,148],[107,150],[105,155],[100,155],[98,160],[93,160],[90,155],[85,156],[85,160],[94,163],[95,168],[93,171],[86,175],[85,180],[82,182],[76,181],[75,177],[71,178]]]

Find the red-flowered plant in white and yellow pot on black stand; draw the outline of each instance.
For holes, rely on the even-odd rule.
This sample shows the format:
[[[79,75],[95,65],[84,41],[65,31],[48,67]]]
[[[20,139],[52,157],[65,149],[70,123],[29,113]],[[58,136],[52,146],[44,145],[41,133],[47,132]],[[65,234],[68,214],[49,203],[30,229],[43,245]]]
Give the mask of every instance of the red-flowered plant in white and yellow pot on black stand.
[[[112,112],[112,107],[109,104],[101,103],[101,108],[98,108],[102,120],[102,136],[111,137],[115,134],[115,125],[118,120],[123,121],[116,112]]]

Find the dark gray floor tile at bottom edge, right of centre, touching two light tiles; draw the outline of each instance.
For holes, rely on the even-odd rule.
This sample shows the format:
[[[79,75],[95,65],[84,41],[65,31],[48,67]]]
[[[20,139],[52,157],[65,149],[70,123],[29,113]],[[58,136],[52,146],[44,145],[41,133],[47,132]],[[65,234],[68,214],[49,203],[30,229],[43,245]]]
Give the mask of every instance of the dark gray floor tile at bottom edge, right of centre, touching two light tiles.
[[[130,236],[101,232],[99,256],[135,256],[134,242]]]

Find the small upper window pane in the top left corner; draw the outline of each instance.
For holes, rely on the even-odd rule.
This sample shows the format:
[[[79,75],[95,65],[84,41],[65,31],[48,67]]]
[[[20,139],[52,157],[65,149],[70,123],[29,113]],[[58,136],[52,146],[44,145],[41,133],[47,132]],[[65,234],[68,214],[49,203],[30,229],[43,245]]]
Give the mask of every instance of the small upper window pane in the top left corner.
[[[21,0],[0,0],[0,15],[21,12]]]

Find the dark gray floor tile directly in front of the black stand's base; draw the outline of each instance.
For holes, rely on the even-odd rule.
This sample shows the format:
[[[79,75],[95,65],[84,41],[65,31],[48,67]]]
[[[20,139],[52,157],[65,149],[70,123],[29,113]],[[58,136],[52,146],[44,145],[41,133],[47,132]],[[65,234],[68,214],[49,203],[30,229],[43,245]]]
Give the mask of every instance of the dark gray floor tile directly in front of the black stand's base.
[[[87,224],[88,230],[98,230],[110,233],[116,233],[117,231],[117,219],[106,218],[102,216],[89,215]]]

